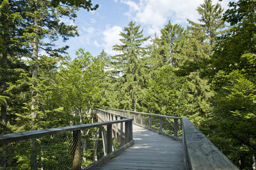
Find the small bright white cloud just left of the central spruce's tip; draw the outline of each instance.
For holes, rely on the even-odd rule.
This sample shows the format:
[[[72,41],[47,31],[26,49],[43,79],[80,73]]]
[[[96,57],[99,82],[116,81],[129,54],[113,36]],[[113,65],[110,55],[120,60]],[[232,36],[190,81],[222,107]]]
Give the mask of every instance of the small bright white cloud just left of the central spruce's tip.
[[[116,55],[118,52],[112,50],[113,45],[120,44],[119,39],[121,36],[119,35],[122,31],[122,27],[113,26],[109,27],[106,26],[105,31],[103,31],[103,44],[104,50],[111,55]]]

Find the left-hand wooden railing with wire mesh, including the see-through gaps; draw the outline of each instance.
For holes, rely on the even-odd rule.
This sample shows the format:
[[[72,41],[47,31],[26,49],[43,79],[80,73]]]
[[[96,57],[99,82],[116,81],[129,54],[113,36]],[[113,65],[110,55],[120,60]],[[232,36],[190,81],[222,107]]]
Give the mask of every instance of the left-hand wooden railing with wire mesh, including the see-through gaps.
[[[98,123],[0,135],[0,169],[93,169],[134,143],[132,119],[118,115],[116,120],[110,118]],[[121,143],[113,132],[123,124],[125,128],[119,130],[124,134]]]

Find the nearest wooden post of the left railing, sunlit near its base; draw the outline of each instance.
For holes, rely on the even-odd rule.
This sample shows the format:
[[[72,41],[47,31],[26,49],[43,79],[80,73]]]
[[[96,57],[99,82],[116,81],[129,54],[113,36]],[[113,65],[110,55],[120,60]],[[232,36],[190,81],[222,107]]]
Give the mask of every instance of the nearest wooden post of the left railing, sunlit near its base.
[[[81,169],[81,130],[73,131],[73,169]]]

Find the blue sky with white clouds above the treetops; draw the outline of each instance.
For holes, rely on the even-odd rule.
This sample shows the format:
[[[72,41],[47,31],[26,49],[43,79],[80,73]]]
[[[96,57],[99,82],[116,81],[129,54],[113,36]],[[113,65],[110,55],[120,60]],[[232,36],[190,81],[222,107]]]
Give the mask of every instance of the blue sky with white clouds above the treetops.
[[[213,0],[228,9],[228,0]],[[92,12],[79,10],[76,20],[61,19],[66,24],[77,26],[79,36],[70,38],[67,42],[58,41],[56,45],[68,45],[68,54],[75,58],[76,50],[83,48],[93,56],[100,54],[102,49],[108,55],[117,54],[112,50],[113,45],[120,44],[120,31],[132,20],[143,29],[144,36],[159,35],[160,29],[167,24],[188,25],[189,20],[198,22],[200,15],[197,6],[204,0],[92,0],[99,8]],[[148,40],[147,43],[150,43]]]

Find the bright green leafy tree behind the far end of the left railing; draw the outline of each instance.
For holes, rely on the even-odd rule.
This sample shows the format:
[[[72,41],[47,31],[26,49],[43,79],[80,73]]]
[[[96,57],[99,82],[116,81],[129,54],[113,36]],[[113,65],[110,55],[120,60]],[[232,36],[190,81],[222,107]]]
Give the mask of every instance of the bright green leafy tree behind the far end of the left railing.
[[[84,49],[77,58],[61,66],[58,73],[58,100],[67,114],[84,114],[90,107],[100,107],[104,62]]]

